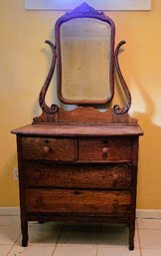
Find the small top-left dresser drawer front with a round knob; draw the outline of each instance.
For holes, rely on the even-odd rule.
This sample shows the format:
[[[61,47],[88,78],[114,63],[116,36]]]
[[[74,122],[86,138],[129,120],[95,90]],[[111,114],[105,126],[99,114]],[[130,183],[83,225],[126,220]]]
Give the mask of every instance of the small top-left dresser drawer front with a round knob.
[[[75,140],[72,138],[22,137],[22,155],[25,159],[74,161]]]

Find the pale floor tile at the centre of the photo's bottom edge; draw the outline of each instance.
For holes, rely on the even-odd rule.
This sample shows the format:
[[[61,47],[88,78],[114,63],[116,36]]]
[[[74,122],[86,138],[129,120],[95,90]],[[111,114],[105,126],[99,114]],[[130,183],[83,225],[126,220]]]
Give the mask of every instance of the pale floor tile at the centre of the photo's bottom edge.
[[[96,246],[57,247],[54,256],[96,256]]]

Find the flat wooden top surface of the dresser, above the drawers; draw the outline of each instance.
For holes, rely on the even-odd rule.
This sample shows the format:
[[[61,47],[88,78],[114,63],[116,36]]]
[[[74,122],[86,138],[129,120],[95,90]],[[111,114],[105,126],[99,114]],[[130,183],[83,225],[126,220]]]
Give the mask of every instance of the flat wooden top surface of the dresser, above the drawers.
[[[138,124],[50,124],[28,125],[11,131],[24,135],[56,135],[56,136],[115,136],[115,135],[142,135],[143,131]]]

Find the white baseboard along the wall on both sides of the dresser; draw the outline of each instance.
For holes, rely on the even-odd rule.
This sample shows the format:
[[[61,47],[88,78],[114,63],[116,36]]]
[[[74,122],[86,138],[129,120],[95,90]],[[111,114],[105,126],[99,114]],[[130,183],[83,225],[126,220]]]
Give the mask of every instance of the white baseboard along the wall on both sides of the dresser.
[[[0,216],[18,216],[19,207],[0,207]],[[136,209],[136,217],[140,219],[161,219],[161,210]]]

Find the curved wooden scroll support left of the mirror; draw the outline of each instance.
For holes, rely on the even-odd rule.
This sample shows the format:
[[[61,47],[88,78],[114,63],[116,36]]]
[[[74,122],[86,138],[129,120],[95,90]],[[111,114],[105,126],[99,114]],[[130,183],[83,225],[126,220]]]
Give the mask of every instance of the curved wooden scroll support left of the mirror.
[[[51,107],[47,106],[47,104],[45,102],[45,98],[46,98],[47,90],[49,88],[49,85],[51,83],[51,80],[53,78],[53,74],[54,74],[54,71],[55,71],[56,59],[57,59],[56,47],[49,40],[46,40],[45,43],[47,43],[51,47],[53,58],[52,58],[52,64],[51,64],[50,71],[48,73],[48,76],[46,78],[44,86],[43,86],[43,88],[42,88],[42,90],[40,92],[40,95],[39,95],[39,105],[40,105],[41,109],[45,113],[47,113],[47,114],[55,114],[59,110],[59,107],[57,105],[55,105],[55,104],[53,104]]]

